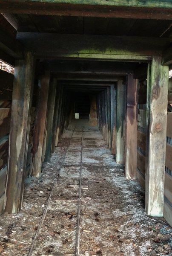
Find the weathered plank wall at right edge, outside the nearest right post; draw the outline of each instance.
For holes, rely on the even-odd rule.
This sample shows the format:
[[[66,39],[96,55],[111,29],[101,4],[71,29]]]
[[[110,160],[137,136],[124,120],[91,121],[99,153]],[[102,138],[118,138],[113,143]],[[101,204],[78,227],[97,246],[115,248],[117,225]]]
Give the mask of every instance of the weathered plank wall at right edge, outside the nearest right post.
[[[172,104],[172,78],[169,79],[168,103]],[[167,114],[164,218],[172,226],[172,112]]]

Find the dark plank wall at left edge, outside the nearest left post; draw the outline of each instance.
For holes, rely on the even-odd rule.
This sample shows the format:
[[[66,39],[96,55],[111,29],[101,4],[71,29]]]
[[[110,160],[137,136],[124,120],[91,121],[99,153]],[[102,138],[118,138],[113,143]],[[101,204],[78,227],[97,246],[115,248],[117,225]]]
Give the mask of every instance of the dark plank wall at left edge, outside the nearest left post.
[[[13,75],[0,70],[0,214],[3,212]]]

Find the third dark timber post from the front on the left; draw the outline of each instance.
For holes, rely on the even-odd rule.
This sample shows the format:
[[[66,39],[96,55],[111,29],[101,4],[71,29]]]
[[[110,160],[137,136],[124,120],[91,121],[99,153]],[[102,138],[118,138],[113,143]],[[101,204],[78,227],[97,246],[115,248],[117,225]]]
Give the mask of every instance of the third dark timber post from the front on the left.
[[[50,159],[51,149],[52,149],[52,128],[53,128],[53,117],[54,117],[54,107],[55,107],[56,85],[57,85],[57,79],[54,78],[49,88],[47,126],[46,126],[46,130],[47,130],[46,156],[45,156],[46,162],[48,162]]]

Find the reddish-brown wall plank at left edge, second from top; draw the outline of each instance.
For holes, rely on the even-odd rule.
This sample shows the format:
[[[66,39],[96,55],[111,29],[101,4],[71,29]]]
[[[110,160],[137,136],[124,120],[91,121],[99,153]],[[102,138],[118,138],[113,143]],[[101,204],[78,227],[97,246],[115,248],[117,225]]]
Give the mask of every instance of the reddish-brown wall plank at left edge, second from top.
[[[0,108],[0,138],[9,134],[10,130],[10,108]]]

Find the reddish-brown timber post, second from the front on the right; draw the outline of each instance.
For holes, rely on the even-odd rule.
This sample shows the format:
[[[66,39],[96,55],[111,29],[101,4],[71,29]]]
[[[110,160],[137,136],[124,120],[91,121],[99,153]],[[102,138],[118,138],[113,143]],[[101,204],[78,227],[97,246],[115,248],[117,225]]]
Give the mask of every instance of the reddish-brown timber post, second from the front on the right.
[[[137,178],[138,79],[128,75],[126,96],[126,179]]]

